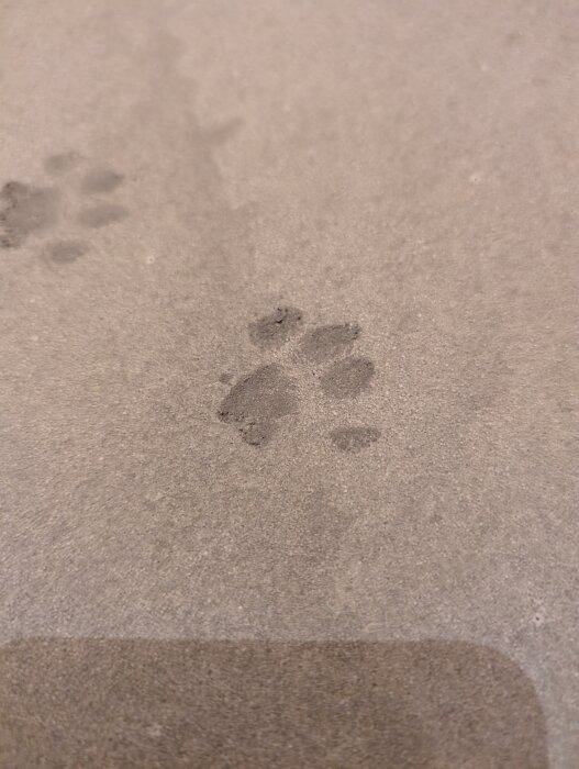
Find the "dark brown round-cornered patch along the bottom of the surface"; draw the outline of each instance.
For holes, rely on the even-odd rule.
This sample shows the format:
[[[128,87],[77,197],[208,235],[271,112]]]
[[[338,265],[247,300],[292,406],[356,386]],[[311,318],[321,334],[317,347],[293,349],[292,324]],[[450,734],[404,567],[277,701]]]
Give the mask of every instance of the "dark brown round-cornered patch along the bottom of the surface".
[[[527,676],[474,644],[25,640],[0,766],[546,769]]]

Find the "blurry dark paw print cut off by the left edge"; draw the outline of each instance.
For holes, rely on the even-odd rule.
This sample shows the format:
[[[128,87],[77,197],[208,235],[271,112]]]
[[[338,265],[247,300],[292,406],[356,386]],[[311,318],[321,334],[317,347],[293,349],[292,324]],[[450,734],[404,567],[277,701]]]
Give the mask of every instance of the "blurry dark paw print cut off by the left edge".
[[[121,222],[127,209],[111,200],[124,181],[122,174],[101,165],[87,167],[78,153],[52,155],[44,163],[49,183],[8,181],[0,190],[0,248],[22,248],[42,239],[45,258],[56,264],[85,256],[90,244],[82,237],[49,239],[59,224],[67,235]]]

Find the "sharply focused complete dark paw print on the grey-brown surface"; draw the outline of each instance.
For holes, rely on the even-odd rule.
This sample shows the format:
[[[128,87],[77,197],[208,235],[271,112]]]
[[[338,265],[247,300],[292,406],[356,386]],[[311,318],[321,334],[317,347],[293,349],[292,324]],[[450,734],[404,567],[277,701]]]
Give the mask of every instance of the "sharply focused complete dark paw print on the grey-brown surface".
[[[329,400],[355,399],[370,388],[374,361],[353,354],[361,334],[357,323],[307,331],[302,325],[303,313],[292,307],[277,308],[249,323],[249,338],[264,353],[277,353],[291,342],[294,354],[292,371],[287,365],[266,363],[238,379],[223,399],[219,419],[236,427],[245,443],[269,443],[287,421],[285,417],[298,415],[304,371],[315,372],[316,386]],[[227,382],[227,378],[221,381]],[[329,437],[342,452],[359,452],[376,443],[380,431],[368,425],[343,425],[331,431]]]

